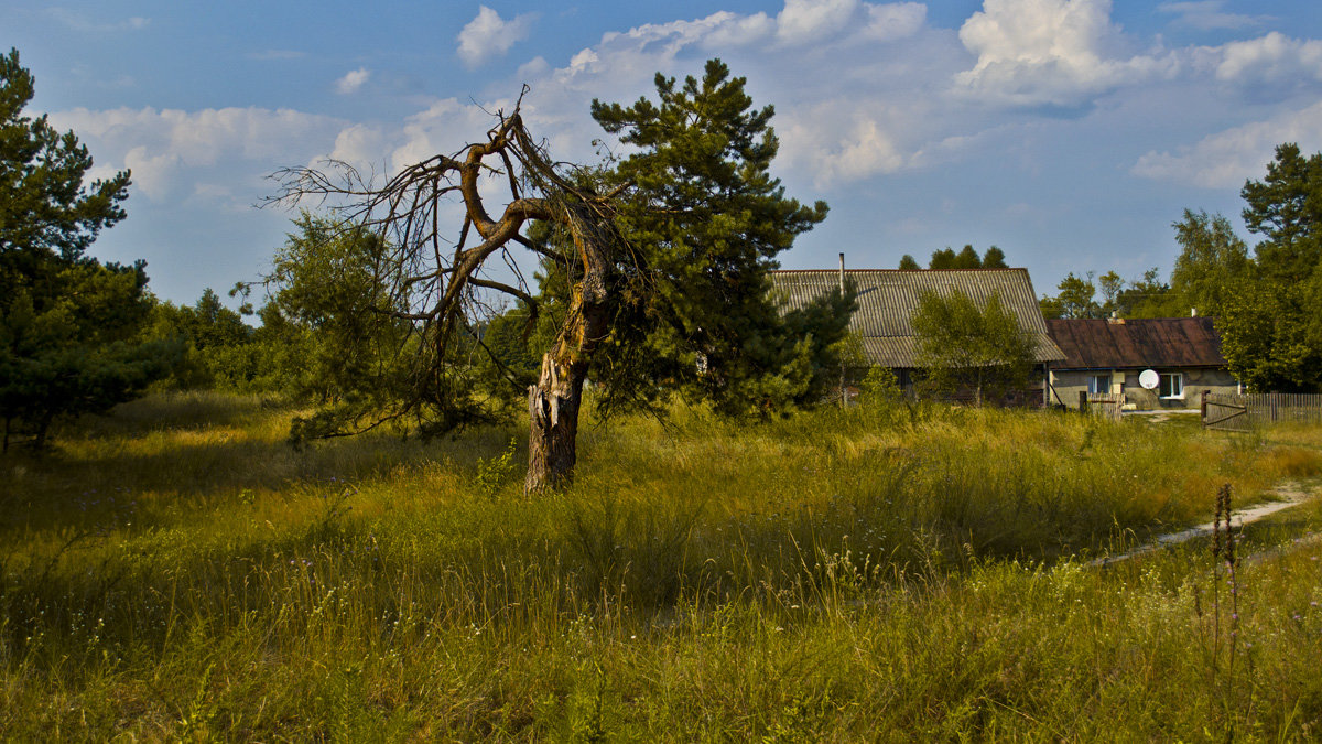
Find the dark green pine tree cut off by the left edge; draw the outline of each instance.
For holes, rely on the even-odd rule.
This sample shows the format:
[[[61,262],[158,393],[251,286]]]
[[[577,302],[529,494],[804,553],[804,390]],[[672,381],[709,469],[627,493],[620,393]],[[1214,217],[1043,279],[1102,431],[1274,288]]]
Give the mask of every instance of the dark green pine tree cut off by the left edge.
[[[128,171],[86,183],[93,165],[73,132],[29,118],[33,77],[0,56],[0,418],[4,446],[41,447],[59,417],[103,412],[164,375],[181,344],[141,344],[151,311],[143,262],[85,256],[124,218]]]

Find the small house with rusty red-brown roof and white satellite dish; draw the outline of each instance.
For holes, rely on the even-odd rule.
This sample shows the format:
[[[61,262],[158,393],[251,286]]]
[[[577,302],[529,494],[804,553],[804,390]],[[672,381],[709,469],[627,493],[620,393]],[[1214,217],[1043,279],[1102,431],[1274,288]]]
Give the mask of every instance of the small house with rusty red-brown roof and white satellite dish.
[[[1137,409],[1198,408],[1203,391],[1240,392],[1211,318],[1068,318],[1047,328],[1066,355],[1051,365],[1052,402],[1077,406],[1089,392],[1124,393]],[[1140,384],[1147,369],[1151,389]]]

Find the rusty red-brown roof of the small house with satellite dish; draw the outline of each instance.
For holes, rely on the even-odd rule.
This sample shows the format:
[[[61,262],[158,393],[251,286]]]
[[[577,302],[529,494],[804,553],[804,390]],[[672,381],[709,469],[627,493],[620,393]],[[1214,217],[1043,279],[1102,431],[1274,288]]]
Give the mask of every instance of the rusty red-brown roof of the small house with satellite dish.
[[[1058,369],[1225,365],[1211,318],[1064,318],[1047,328],[1066,353]]]

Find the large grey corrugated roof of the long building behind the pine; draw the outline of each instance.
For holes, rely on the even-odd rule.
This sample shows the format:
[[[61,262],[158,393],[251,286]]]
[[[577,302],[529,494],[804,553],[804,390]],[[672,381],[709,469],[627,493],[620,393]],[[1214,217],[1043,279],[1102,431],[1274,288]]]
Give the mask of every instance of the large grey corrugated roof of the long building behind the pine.
[[[863,349],[874,364],[916,367],[917,342],[910,316],[917,310],[919,298],[924,291],[949,297],[956,290],[980,303],[986,302],[993,293],[999,293],[1002,306],[1036,340],[1038,361],[1066,357],[1047,332],[1027,269],[851,269],[845,271],[845,278],[853,281],[858,291],[858,310],[854,311],[849,328],[862,338]],[[804,307],[838,287],[839,271],[772,271],[771,281],[780,293],[784,307],[791,310]]]

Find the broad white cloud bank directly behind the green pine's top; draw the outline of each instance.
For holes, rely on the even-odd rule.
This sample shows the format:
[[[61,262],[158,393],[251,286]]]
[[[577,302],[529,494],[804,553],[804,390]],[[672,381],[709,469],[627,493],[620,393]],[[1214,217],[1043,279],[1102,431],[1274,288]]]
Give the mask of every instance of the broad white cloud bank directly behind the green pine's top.
[[[633,101],[652,93],[657,71],[699,75],[703,60],[718,54],[734,74],[748,75],[756,105],[776,106],[777,169],[792,173],[796,185],[836,185],[894,172],[911,167],[928,138],[949,134],[944,132],[949,122],[970,122],[923,119],[919,111],[931,111],[935,97],[908,94],[915,86],[944,87],[964,58],[954,34],[925,29],[925,7],[917,3],[792,0],[779,17],[717,12],[605,33],[541,79],[518,75],[533,89],[525,119],[551,142],[558,158],[588,159],[590,140],[600,136],[586,116],[590,101]],[[919,38],[920,33],[928,36]],[[785,52],[789,40],[808,37],[821,44]],[[908,46],[895,46],[910,38],[915,41]],[[916,64],[915,45],[924,52]],[[907,93],[898,94],[900,89]],[[879,101],[890,103],[883,107]]]

